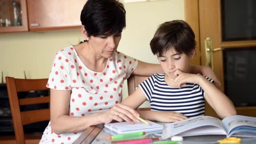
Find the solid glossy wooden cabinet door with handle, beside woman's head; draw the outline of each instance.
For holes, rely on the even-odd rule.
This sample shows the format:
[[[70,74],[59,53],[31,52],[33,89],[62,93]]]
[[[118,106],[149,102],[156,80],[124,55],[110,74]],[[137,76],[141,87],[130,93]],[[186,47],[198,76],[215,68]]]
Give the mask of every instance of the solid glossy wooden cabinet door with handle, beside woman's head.
[[[29,31],[80,28],[86,0],[27,0]]]

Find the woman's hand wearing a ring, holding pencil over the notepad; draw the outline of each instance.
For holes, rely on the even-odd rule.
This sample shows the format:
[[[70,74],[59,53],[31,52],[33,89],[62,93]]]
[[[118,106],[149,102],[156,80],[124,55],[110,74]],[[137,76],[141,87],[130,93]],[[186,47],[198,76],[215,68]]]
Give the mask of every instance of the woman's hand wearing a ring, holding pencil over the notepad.
[[[139,113],[133,108],[125,104],[116,104],[115,107],[112,107],[106,112],[103,112],[101,115],[102,123],[111,123],[112,120],[118,122],[127,121],[130,124],[139,123],[139,120],[135,117],[139,117]]]

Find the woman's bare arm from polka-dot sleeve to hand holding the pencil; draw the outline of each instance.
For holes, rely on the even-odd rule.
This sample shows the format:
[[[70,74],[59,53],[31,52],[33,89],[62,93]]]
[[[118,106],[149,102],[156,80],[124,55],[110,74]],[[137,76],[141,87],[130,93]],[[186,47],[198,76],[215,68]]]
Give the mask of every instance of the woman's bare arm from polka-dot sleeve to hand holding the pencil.
[[[110,123],[112,120],[119,122],[125,120],[128,123],[136,121],[133,115],[139,115],[131,107],[117,104],[106,112],[99,112],[83,117],[69,116],[70,91],[59,91],[51,89],[51,128],[54,133],[75,133],[83,131],[91,125],[99,123]],[[117,116],[118,113],[122,113]]]

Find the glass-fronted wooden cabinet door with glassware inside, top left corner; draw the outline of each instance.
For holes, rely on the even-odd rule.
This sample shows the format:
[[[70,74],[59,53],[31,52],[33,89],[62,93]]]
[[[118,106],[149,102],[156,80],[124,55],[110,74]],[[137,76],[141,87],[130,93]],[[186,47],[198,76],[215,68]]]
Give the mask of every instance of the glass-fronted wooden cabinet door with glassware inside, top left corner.
[[[26,0],[0,0],[0,33],[27,31]]]

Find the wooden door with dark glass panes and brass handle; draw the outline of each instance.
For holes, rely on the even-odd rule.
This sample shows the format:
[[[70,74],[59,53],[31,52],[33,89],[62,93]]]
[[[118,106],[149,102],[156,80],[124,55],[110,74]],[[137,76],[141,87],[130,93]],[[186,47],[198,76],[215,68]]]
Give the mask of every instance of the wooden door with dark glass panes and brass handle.
[[[256,117],[256,1],[199,0],[198,7],[202,65],[212,67],[237,115]],[[217,117],[209,107],[205,115]]]

